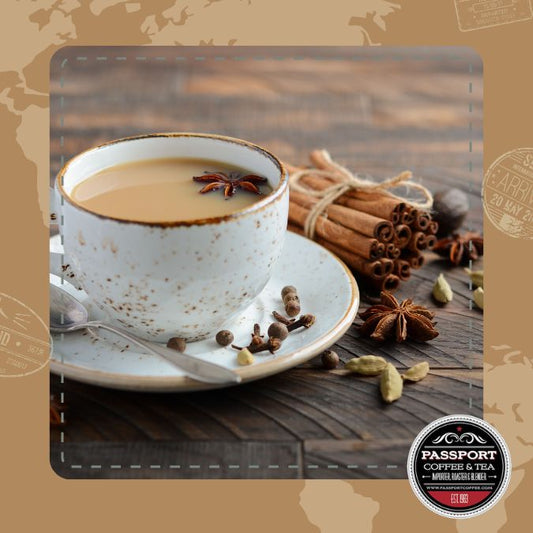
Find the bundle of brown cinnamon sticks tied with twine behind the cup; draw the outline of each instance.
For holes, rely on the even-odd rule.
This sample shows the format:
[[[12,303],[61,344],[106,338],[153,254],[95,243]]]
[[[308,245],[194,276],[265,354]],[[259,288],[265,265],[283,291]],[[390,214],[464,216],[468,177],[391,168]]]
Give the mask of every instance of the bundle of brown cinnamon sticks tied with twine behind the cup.
[[[318,160],[313,160],[313,158]],[[324,165],[320,154],[311,159]],[[286,165],[292,174],[297,167]],[[304,175],[307,189],[331,187],[327,177]],[[305,235],[304,227],[318,198],[291,188],[289,230]],[[438,225],[429,212],[381,191],[350,190],[337,198],[317,218],[314,240],[342,259],[369,292],[394,291],[409,279],[412,269],[424,264],[424,250],[436,243]]]

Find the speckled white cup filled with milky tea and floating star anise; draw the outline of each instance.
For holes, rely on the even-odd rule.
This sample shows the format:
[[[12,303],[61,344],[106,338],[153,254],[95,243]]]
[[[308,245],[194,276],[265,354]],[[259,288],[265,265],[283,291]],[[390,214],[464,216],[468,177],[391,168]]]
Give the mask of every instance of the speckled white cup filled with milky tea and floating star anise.
[[[57,176],[51,211],[64,258],[51,254],[51,272],[140,337],[202,339],[267,284],[288,200],[281,162],[247,141],[158,133],[108,142]]]

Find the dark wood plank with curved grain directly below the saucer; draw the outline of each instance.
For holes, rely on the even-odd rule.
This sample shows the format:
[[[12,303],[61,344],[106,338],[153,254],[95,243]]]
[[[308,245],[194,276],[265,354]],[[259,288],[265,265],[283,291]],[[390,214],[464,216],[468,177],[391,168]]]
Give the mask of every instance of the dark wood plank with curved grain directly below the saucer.
[[[410,438],[440,416],[481,416],[481,381],[481,370],[431,369],[423,381],[406,384],[392,405],[382,402],[376,377],[313,366],[210,393],[138,394],[70,380],[61,386],[56,377],[52,387],[64,392],[68,406],[62,428],[67,443],[299,442]]]

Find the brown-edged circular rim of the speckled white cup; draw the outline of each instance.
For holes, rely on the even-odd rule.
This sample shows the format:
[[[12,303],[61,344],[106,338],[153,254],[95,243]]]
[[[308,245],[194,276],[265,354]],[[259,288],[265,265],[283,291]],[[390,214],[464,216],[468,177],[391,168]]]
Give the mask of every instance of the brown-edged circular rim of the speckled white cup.
[[[245,207],[244,209],[239,209],[233,213],[230,213],[228,215],[220,215],[216,217],[206,217],[206,218],[197,218],[197,219],[191,219],[191,220],[167,220],[167,221],[142,221],[142,220],[132,220],[129,218],[122,218],[122,217],[114,217],[111,215],[102,215],[101,213],[96,213],[95,211],[92,211],[91,209],[88,209],[87,207],[81,205],[79,202],[77,202],[72,196],[66,193],[64,187],[63,187],[63,177],[68,171],[70,165],[82,157],[86,156],[87,154],[91,152],[96,152],[100,150],[101,148],[105,148],[106,146],[111,146],[113,144],[123,143],[127,141],[135,141],[139,139],[149,139],[154,137],[196,137],[196,138],[202,138],[202,139],[215,139],[230,143],[239,144],[241,146],[244,146],[246,148],[250,148],[252,150],[258,151],[268,157],[274,165],[279,170],[280,178],[279,182],[274,187],[274,189],[268,193],[265,198],[254,202],[253,204]],[[166,133],[148,133],[148,134],[140,134],[140,135],[132,135],[128,137],[121,137],[120,139],[114,139],[112,141],[107,141],[102,144],[98,144],[96,146],[93,146],[92,148],[88,148],[87,150],[84,150],[83,152],[80,152],[79,154],[75,155],[71,159],[69,159],[62,167],[61,170],[58,172],[56,176],[56,187],[61,196],[65,199],[66,202],[70,203],[74,207],[81,209],[87,213],[90,213],[91,215],[94,215],[98,218],[104,219],[104,220],[113,220],[116,222],[122,222],[125,224],[137,224],[140,226],[152,226],[152,227],[160,227],[160,228],[169,228],[169,227],[178,227],[178,226],[203,226],[208,224],[219,224],[220,222],[226,222],[229,220],[235,220],[242,217],[245,217],[247,215],[250,215],[252,213],[256,213],[258,211],[262,211],[265,209],[268,205],[275,202],[276,200],[279,200],[283,193],[285,192],[287,185],[288,185],[288,174],[287,170],[283,166],[283,163],[272,153],[270,153],[265,148],[251,143],[249,141],[245,141],[244,139],[238,139],[236,137],[229,137],[226,135],[218,135],[216,133],[190,133],[190,132],[166,132]]]

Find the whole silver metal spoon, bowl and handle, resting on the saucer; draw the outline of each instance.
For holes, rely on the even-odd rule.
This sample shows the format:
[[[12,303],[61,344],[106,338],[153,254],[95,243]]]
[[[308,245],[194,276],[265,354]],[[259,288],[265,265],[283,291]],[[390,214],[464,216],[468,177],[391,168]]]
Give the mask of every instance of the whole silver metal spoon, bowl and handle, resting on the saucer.
[[[104,322],[89,320],[89,313],[83,304],[60,287],[50,283],[50,331],[67,333],[84,328],[101,328],[116,333],[144,348],[150,353],[163,357],[188,376],[205,383],[240,383],[241,377],[223,366],[215,365],[191,355],[180,353],[154,342],[145,341],[120,328]]]

